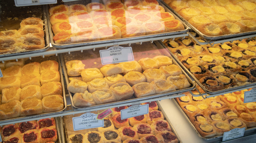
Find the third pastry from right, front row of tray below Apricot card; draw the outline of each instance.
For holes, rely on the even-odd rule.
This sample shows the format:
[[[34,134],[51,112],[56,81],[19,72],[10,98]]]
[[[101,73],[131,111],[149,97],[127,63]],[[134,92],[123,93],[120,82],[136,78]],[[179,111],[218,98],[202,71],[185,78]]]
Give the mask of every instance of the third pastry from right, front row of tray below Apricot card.
[[[133,87],[134,95],[136,98],[145,97],[156,94],[154,87],[148,82],[138,83]]]

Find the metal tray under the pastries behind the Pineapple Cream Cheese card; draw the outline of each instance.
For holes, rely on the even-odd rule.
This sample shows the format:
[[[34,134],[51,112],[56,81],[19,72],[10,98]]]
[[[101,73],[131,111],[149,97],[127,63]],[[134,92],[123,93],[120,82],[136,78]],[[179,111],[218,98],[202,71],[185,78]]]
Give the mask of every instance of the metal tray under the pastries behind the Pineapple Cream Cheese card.
[[[178,140],[179,140],[179,143],[182,143],[181,142],[181,138],[180,136],[177,134],[176,130],[174,129],[172,123],[170,122],[170,120],[167,118],[167,115],[165,114],[163,108],[161,107],[160,103],[157,101],[157,104],[158,104],[158,110],[162,112],[163,116],[164,116],[164,120],[166,120],[169,124],[170,124],[170,127],[172,129],[172,132],[177,136]],[[98,110],[98,111],[94,111],[94,112],[91,112],[91,113],[94,113],[94,114],[98,114],[100,112],[102,112],[103,110]],[[73,115],[68,115],[68,116],[64,116],[61,120],[60,120],[60,123],[61,125],[61,128],[63,128],[62,131],[64,132],[61,132],[63,133],[62,136],[64,136],[64,138],[66,139],[65,142],[68,142],[68,137],[69,135],[72,135],[72,134],[85,134],[87,132],[90,132],[90,131],[97,131],[97,128],[92,128],[92,129],[85,129],[85,130],[78,130],[78,131],[74,131],[73,130],[73,120],[72,118],[73,117],[78,117],[80,115],[82,115],[84,113],[80,113],[80,114],[73,114]],[[111,115],[110,115],[111,116]],[[110,118],[109,116],[107,118]],[[67,128],[68,126],[68,128]],[[64,140],[63,140],[64,141]]]

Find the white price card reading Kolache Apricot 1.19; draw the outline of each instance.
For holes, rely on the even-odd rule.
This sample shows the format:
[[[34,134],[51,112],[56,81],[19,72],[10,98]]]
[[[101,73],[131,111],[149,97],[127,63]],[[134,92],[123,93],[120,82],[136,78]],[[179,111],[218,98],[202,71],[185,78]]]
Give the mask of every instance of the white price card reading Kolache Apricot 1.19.
[[[100,50],[99,54],[102,65],[134,61],[132,47],[113,46]]]

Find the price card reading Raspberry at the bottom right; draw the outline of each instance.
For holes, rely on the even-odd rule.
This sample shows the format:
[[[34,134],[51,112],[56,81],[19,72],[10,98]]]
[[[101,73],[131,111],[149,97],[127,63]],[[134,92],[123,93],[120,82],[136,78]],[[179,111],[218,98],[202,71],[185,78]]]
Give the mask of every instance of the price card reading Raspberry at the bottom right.
[[[227,141],[244,136],[245,128],[235,128],[228,132],[224,132],[222,141]]]

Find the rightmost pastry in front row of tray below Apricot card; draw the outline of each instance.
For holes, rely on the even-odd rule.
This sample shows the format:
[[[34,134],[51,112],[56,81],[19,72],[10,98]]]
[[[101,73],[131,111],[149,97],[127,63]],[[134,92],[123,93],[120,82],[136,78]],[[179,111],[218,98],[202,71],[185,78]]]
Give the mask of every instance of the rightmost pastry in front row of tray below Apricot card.
[[[183,74],[177,76],[169,76],[166,80],[172,82],[176,90],[190,87],[190,83]]]

